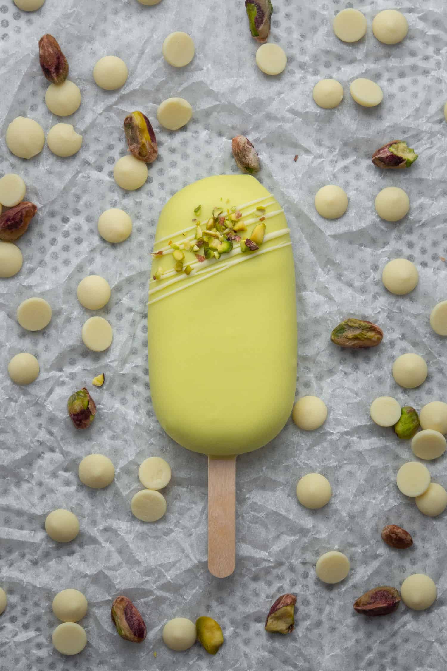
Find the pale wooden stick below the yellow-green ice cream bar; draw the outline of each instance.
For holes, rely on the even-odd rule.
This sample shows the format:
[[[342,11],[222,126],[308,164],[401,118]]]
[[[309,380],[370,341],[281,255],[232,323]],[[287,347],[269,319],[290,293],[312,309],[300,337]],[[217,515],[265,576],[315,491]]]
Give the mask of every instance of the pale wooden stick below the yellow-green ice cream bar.
[[[208,569],[216,578],[236,566],[236,457],[208,457]]]

